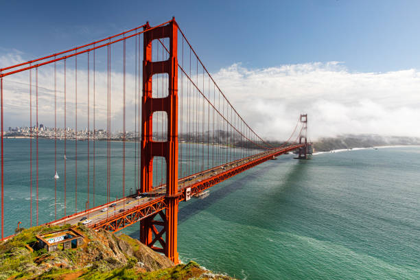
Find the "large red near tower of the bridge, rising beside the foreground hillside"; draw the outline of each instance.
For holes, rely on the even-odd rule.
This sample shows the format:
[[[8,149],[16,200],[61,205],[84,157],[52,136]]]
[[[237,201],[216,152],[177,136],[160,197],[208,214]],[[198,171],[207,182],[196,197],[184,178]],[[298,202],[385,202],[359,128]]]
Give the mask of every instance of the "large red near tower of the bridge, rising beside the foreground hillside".
[[[145,30],[150,29],[149,25]],[[153,189],[153,158],[162,156],[166,162],[165,213],[150,215],[140,222],[140,241],[150,248],[164,253],[178,264],[178,25],[172,19],[167,25],[143,33],[143,97],[141,100],[141,192]],[[168,60],[152,62],[152,41],[170,39]],[[152,76],[168,75],[167,97],[152,97]],[[167,114],[167,141],[153,141],[152,117],[155,112]],[[161,218],[157,220],[156,218]],[[165,239],[163,239],[165,235]],[[162,248],[155,246],[159,242]]]

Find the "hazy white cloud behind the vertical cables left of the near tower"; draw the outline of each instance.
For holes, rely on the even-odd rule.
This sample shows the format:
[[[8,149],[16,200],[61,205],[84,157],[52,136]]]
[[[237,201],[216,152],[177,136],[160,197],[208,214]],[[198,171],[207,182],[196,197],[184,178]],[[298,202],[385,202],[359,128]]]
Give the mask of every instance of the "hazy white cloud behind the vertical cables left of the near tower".
[[[107,72],[104,71],[102,57],[97,59],[95,71],[95,104],[96,127],[106,128],[107,110]],[[19,53],[9,53],[0,56],[1,67],[14,65],[25,61]],[[92,61],[92,60],[91,60]],[[64,127],[64,89],[66,80],[67,126],[75,127],[75,62],[67,60],[66,79],[64,62],[56,65],[57,93],[57,126]],[[87,75],[86,57],[78,59],[78,129],[87,126]],[[127,67],[133,67],[128,63]],[[129,68],[129,70],[132,70]],[[117,69],[120,70],[120,69]],[[113,69],[111,75],[111,127],[121,130],[123,115],[123,73]],[[122,69],[121,69],[122,70]],[[8,70],[10,71],[10,70]],[[8,72],[5,71],[5,72]],[[133,72],[133,73],[131,73]],[[134,71],[126,74],[126,114],[127,130],[135,127],[135,95],[138,92],[135,84]],[[3,78],[3,94],[5,108],[5,129],[8,126],[29,126],[30,123],[30,71],[23,71]],[[137,85],[138,86],[138,85]],[[140,88],[141,90],[141,88]],[[93,65],[90,68],[89,99],[91,102],[90,117],[93,126]],[[38,122],[54,127],[54,64],[38,67]],[[36,124],[36,70],[32,69],[32,125]]]

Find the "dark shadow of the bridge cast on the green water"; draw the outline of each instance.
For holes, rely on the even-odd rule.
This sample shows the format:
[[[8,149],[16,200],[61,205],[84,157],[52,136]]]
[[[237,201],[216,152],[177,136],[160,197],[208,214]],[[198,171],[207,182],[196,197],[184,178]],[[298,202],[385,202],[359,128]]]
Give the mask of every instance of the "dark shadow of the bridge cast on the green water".
[[[237,204],[235,204],[237,207],[231,207],[229,209],[229,215],[221,213],[220,211],[216,211],[214,214],[221,220],[231,224],[256,226],[277,231],[279,225],[283,224],[284,221],[287,221],[290,215],[295,215],[301,211],[302,205],[300,200],[302,196],[305,196],[302,192],[304,191],[304,188],[302,188],[301,178],[304,178],[307,174],[307,163],[307,161],[296,162],[296,164],[288,167],[288,170],[282,172],[281,175],[279,174],[277,179],[273,179],[273,172],[270,172],[270,174],[268,174],[270,178],[262,179],[266,180],[266,183],[270,184],[270,187],[261,188],[261,193],[257,194],[255,197],[253,197],[252,194],[246,194],[244,196],[244,201],[237,202]],[[279,164],[283,163],[279,161],[270,162],[270,165],[261,169],[263,172],[257,170],[254,174],[244,177],[244,180],[235,180],[229,186],[218,189],[218,191],[224,192],[225,189],[231,189],[230,192],[240,190],[244,185],[238,184],[240,184],[240,182],[247,183],[248,180],[250,183],[255,182],[255,184],[261,186],[261,183],[264,184],[264,182],[259,182],[258,180],[261,180],[264,173],[279,168]],[[273,182],[273,180],[275,181]],[[249,185],[247,189],[249,189]],[[210,196],[213,196],[213,192]],[[209,207],[211,203],[214,203],[217,200],[218,199],[216,198],[215,200],[209,201],[208,204],[206,204],[207,206],[198,205],[197,211]],[[244,206],[241,206],[241,204]],[[190,213],[183,214],[186,216],[185,220],[191,215],[194,215],[194,213],[191,215]]]

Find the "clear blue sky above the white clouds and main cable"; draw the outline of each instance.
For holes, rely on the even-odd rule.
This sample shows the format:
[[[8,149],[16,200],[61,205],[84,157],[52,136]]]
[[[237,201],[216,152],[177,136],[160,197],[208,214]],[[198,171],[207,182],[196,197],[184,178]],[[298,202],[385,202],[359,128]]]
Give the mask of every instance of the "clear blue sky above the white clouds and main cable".
[[[340,61],[419,68],[420,1],[2,1],[0,51],[25,58],[176,16],[211,71]]]

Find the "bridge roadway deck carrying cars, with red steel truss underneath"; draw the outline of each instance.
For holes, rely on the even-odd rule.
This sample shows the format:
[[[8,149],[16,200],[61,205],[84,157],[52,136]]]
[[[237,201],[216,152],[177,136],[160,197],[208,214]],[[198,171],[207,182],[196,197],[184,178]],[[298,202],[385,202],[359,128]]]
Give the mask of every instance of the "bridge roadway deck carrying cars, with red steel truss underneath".
[[[185,178],[178,180],[178,190],[180,201],[185,200],[185,190],[191,188],[191,196],[199,194],[201,191],[216,185],[217,183],[231,178],[236,174],[244,172],[245,170],[264,163],[273,158],[273,156],[279,156],[287,152],[299,149],[303,145],[288,145],[284,148],[277,148],[269,150],[267,152],[261,152],[253,156],[248,156],[244,159],[232,161],[218,167],[213,167],[209,170],[192,174]],[[91,220],[89,227],[93,229],[106,229],[108,231],[119,231],[124,229],[126,226],[130,226],[138,222],[139,220],[158,213],[165,209],[165,185],[156,187],[153,191],[150,191],[146,196],[136,198],[138,195],[128,196],[121,198],[113,202],[109,202],[105,205],[88,209],[87,211],[81,211],[73,215],[61,218],[48,224],[78,224],[82,222],[81,219],[86,217],[86,220]],[[111,205],[115,204],[115,207]],[[104,208],[108,210],[104,211]]]

